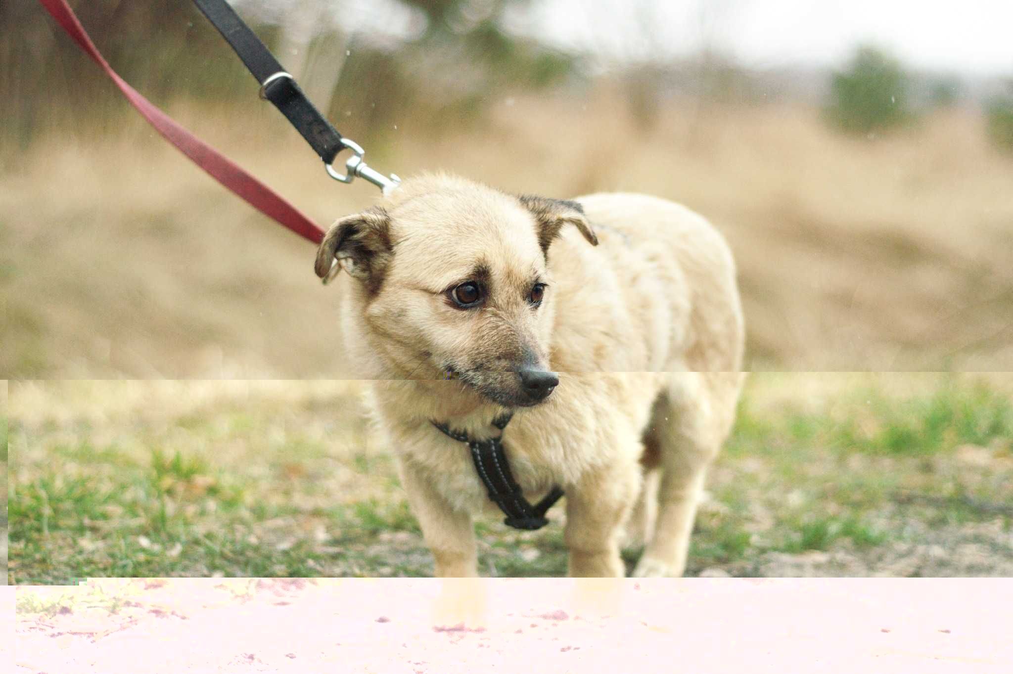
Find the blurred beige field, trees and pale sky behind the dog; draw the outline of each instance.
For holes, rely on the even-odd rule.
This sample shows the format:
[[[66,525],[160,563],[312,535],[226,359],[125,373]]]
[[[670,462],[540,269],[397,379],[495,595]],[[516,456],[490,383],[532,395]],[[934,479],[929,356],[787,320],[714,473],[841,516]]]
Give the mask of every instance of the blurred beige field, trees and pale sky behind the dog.
[[[189,2],[72,2],[113,68],[322,227],[370,204]],[[1013,368],[1013,6],[235,3],[379,170],[636,190],[738,260],[751,369]],[[165,144],[34,2],[0,3],[0,369],[339,377],[313,247]]]

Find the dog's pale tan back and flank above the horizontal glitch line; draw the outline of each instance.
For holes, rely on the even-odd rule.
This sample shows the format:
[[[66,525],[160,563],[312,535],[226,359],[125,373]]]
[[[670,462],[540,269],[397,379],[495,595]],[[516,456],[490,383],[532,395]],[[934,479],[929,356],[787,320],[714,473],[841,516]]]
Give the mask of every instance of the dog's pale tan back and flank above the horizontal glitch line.
[[[550,251],[560,294],[553,366],[739,370],[745,329],[724,238],[666,199],[601,193],[575,200],[601,243],[592,248],[566,232]]]

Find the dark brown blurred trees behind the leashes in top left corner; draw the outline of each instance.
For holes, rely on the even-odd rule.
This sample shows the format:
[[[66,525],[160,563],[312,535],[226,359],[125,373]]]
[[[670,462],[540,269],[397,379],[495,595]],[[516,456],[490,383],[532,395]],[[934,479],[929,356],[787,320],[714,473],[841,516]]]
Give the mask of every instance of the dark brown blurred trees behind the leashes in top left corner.
[[[71,2],[124,78],[159,105],[235,94],[252,81],[191,2]],[[272,44],[269,26],[259,30]],[[113,85],[37,2],[0,0],[0,136],[23,147],[59,130],[122,129],[128,108]]]

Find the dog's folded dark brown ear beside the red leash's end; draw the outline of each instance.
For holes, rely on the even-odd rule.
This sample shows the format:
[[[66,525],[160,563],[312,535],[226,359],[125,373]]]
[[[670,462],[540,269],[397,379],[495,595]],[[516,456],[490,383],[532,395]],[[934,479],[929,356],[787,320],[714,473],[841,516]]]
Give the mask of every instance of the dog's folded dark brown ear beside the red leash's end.
[[[346,216],[331,226],[320,242],[314,270],[317,276],[325,278],[332,260],[337,258],[348,275],[379,287],[392,253],[390,217],[383,208],[373,207]]]

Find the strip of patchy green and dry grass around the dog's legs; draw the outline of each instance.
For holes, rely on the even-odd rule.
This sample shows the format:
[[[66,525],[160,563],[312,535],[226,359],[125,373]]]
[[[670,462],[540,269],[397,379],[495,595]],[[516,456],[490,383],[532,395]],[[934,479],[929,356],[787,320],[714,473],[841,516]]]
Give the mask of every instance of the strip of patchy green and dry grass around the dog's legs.
[[[1011,390],[1009,375],[754,374],[689,572],[795,575],[823,554],[824,574],[869,574],[932,545],[953,558],[905,575],[1010,571],[1013,513],[991,506],[1013,502]],[[12,582],[431,574],[357,391],[14,383]],[[565,574],[561,515],[538,532],[479,519],[482,573]],[[982,540],[992,562],[958,554]]]

